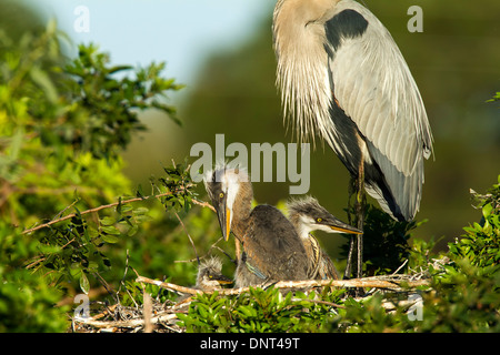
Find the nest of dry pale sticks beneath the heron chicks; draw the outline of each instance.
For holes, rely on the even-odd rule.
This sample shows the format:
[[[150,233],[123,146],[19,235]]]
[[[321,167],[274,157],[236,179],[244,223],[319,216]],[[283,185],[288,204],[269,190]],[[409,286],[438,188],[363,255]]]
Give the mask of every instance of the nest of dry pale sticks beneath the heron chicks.
[[[179,313],[187,313],[191,304],[192,296],[199,293],[218,292],[220,296],[238,295],[248,292],[249,287],[242,288],[220,288],[208,292],[202,292],[197,288],[184,287],[172,283],[164,283],[161,281],[151,280],[143,276],[138,276],[137,282],[144,284],[153,284],[161,288],[170,290],[181,293],[184,296],[180,297],[179,302],[168,301],[161,303],[152,300],[149,294],[143,293],[144,304],[142,306],[126,307],[120,304],[112,306],[103,305],[93,316],[87,318],[73,317],[71,322],[71,331],[78,333],[138,333],[138,332],[157,332],[157,333],[183,333],[184,328],[178,325]],[[370,291],[363,297],[373,294],[374,292],[384,293],[404,293],[416,294],[416,287],[428,286],[429,280],[424,272],[419,272],[412,275],[383,275],[353,280],[308,280],[308,281],[282,281],[278,283],[270,283],[262,285],[262,287],[274,286],[280,290],[293,291],[310,291],[319,287],[341,287],[341,288],[366,288]],[[362,298],[362,297],[360,297]],[[394,297],[384,302],[384,306],[389,312],[397,306],[410,307],[412,304],[408,301],[400,300],[394,302]],[[408,300],[408,297],[406,297]],[[318,301],[320,302],[320,301]]]

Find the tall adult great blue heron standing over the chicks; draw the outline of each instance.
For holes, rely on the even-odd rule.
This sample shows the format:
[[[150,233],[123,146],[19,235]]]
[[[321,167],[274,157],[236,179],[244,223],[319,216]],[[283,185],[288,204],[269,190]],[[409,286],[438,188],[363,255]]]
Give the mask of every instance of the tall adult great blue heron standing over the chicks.
[[[273,40],[284,116],[301,139],[317,133],[327,141],[357,180],[358,227],[363,187],[392,217],[412,220],[432,134],[389,31],[352,0],[278,0]],[[360,235],[358,276],[361,255]],[[347,276],[349,265],[350,257]]]

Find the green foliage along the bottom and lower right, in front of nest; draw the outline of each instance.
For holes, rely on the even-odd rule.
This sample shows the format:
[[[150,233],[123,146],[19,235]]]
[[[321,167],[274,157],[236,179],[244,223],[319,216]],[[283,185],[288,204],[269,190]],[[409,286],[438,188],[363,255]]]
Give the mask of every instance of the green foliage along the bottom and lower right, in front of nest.
[[[188,314],[179,317],[188,332],[498,333],[499,196],[498,184],[484,195],[474,194],[483,221],[473,229],[464,227],[467,234],[457,243],[450,243],[448,253],[437,254],[433,251],[437,241],[432,239],[413,240],[411,247],[400,248],[408,255],[408,270],[429,277],[429,286],[419,287],[417,293],[376,292],[354,300],[342,297],[343,291],[283,296],[272,287],[251,288],[239,296],[199,295]],[[369,209],[366,231],[374,234],[381,229],[387,232],[384,237],[398,236],[392,241],[407,242],[407,233],[418,225],[398,224],[373,210]],[[466,239],[468,242],[463,242]],[[398,250],[400,246],[394,244]],[[394,247],[390,243],[386,246]],[[408,303],[411,300],[421,303]],[[421,317],[417,317],[419,312]]]

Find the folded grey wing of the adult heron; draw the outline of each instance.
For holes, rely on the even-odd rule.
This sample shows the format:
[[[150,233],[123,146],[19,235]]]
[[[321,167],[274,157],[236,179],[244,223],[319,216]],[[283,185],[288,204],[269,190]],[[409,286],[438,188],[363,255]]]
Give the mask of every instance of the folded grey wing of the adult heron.
[[[411,72],[389,31],[357,2],[339,2],[326,22],[326,40],[333,113],[332,136],[327,141],[338,144],[332,148],[342,155],[349,146],[339,148],[342,143],[333,141],[347,124],[339,122],[346,116],[352,120],[367,143],[366,162],[373,165],[373,174],[381,172],[381,176],[366,175],[367,192],[386,212],[411,220],[420,204],[423,160],[432,150],[426,109]]]

